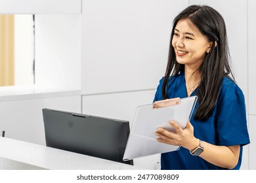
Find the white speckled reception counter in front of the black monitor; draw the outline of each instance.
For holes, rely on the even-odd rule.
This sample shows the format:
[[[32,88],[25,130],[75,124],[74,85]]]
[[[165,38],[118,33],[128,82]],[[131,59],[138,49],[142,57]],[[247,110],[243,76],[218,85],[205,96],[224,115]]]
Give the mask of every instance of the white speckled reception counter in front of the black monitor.
[[[0,169],[133,170],[133,165],[0,137]]]

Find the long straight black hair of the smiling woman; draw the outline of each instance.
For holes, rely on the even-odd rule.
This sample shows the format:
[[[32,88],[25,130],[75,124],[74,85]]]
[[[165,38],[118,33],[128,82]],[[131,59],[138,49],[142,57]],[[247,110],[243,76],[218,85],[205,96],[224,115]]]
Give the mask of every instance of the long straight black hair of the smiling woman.
[[[183,19],[187,19],[188,22],[195,25],[202,35],[207,38],[207,41],[213,42],[210,52],[205,54],[204,61],[198,69],[202,78],[196,93],[198,95],[199,106],[194,114],[195,120],[207,120],[217,103],[222,78],[227,76],[234,80],[229,63],[230,55],[226,37],[226,25],[223,17],[217,10],[205,5],[191,5],[182,10],[173,20],[171,41],[177,23]],[[184,65],[179,64],[176,60],[175,50],[171,41],[161,91],[164,99],[167,99],[169,77],[184,72]]]

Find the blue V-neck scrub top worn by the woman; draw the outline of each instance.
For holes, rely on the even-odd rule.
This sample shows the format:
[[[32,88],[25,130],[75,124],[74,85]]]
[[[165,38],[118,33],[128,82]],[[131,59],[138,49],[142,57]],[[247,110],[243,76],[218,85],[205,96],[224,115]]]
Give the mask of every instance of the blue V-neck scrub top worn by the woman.
[[[161,88],[163,78],[156,91],[154,101],[163,99]],[[169,99],[175,97],[188,97],[184,73],[171,76],[168,83],[167,96]],[[196,89],[197,90],[197,89]],[[191,96],[196,95],[196,90]],[[198,107],[198,102],[194,112]],[[242,162],[242,146],[249,144],[247,131],[247,120],[245,112],[245,100],[242,90],[229,78],[223,78],[222,86],[211,116],[206,121],[194,120],[194,112],[190,119],[194,127],[194,136],[202,141],[218,146],[240,145],[240,157],[234,169],[240,169]],[[208,163],[199,156],[192,156],[186,148],[180,148],[174,152],[161,154],[161,169],[172,170],[202,170],[202,169],[224,169]]]

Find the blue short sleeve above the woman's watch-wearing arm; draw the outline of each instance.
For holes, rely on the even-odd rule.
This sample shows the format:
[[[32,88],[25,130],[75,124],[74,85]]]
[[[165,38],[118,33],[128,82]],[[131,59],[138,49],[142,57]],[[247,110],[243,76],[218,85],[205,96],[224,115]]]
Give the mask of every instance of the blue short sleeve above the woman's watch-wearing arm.
[[[236,84],[225,84],[219,95],[217,109],[217,141],[219,145],[249,144],[245,99]]]

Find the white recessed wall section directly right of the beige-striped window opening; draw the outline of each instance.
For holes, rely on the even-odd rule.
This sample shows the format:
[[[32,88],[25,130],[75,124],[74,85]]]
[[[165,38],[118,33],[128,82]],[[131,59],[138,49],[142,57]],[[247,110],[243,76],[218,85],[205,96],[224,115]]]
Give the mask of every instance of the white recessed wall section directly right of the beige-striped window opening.
[[[35,84],[81,90],[81,15],[35,15]]]

